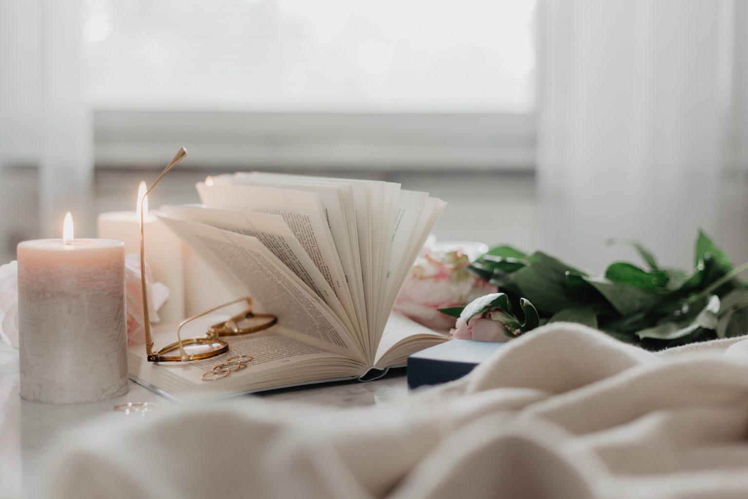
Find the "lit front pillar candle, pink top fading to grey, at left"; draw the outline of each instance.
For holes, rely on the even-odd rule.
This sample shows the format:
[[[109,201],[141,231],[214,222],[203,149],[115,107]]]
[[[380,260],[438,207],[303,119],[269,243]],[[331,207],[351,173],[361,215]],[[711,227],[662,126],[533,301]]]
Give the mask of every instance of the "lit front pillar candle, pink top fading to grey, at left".
[[[73,403],[126,394],[125,245],[63,239],[18,245],[21,397]]]

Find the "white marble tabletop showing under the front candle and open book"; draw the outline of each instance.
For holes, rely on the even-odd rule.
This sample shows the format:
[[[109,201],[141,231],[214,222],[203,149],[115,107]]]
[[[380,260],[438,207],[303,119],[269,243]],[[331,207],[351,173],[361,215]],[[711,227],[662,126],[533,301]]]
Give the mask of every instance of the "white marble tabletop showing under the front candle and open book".
[[[115,413],[115,404],[156,402],[159,411],[176,407],[174,402],[133,382],[129,382],[129,387],[129,394],[103,402],[55,405],[22,400],[19,397],[18,352],[0,342],[0,498],[29,497],[23,492],[40,483],[40,458],[62,432],[81,428],[105,414],[117,414],[123,421],[148,417],[148,414]],[[398,370],[370,383],[333,383],[245,397],[345,407],[408,397],[408,388],[404,370]]]

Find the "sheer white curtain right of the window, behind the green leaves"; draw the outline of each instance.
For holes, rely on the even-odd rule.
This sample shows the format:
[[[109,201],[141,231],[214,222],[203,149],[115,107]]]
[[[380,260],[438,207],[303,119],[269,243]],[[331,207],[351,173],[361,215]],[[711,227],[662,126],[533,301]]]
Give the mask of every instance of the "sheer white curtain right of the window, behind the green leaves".
[[[571,261],[599,248],[586,260],[601,267],[631,256],[604,249],[626,237],[690,266],[702,227],[744,257],[748,237],[729,217],[747,209],[745,184],[730,180],[748,171],[748,1],[538,7],[544,247]]]

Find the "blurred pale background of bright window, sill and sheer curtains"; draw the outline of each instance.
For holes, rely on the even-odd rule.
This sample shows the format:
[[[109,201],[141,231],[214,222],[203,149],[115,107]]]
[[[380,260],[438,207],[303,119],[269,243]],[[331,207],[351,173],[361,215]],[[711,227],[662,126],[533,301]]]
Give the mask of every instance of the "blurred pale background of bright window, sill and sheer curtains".
[[[748,2],[0,0],[0,260],[236,170],[401,182],[441,239],[748,260]]]

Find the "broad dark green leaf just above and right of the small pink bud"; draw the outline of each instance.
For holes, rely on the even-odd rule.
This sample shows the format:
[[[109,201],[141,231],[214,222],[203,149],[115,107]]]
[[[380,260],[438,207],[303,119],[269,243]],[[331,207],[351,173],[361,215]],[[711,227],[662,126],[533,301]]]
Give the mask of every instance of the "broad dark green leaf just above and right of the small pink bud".
[[[554,257],[536,251],[527,258],[527,266],[512,272],[508,277],[518,288],[519,296],[532,301],[542,314],[553,315],[559,310],[577,305],[567,294],[566,272],[584,274]]]

